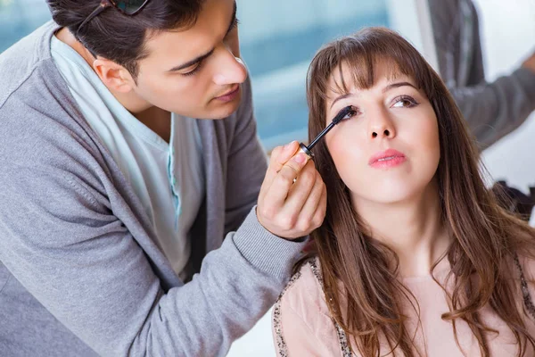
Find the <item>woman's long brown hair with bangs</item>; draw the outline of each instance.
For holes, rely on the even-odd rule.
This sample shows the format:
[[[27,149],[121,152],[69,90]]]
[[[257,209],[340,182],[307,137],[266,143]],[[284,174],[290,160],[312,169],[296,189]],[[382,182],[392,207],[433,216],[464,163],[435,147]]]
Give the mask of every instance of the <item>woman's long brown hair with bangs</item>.
[[[465,120],[440,77],[416,49],[397,33],[383,28],[363,29],[320,49],[307,79],[309,138],[325,129],[325,96],[333,89],[329,79],[334,71],[342,76],[341,63],[350,66],[352,83],[369,88],[374,86],[374,66],[379,61],[391,63],[392,74],[401,72],[416,81],[439,123],[436,177],[440,214],[453,237],[443,258],[451,266],[447,280],[452,287],[446,291],[442,285],[450,306],[442,319],[452,322],[456,339],[456,321],[465,320],[479,342],[481,355],[488,356],[488,335],[495,331],[481,321],[480,311],[489,306],[513,331],[519,355],[523,355],[528,345],[535,347],[535,341],[524,323],[528,315],[513,257],[514,253],[534,257],[534,230],[502,210],[485,187],[478,150]],[[342,79],[334,89],[346,93],[347,82]],[[315,155],[328,203],[325,221],[313,238],[322,266],[325,301],[332,302],[329,308],[333,318],[365,356],[391,351],[405,356],[419,354],[404,326],[399,299],[410,292],[399,281],[396,254],[366,236],[366,226],[351,204],[349,190],[335,169],[325,140],[318,143]],[[417,302],[413,306],[419,313]],[[342,316],[341,311],[347,313]],[[388,351],[381,350],[381,341],[388,342]]]

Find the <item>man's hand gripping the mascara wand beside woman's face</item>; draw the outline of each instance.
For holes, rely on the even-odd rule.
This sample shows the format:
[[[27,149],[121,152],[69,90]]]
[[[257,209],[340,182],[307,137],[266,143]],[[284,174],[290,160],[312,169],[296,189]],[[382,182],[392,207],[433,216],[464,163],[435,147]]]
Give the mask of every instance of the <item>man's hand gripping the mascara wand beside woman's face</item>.
[[[260,224],[286,239],[305,237],[318,228],[327,205],[323,179],[298,149],[293,141],[273,150],[257,206]]]

